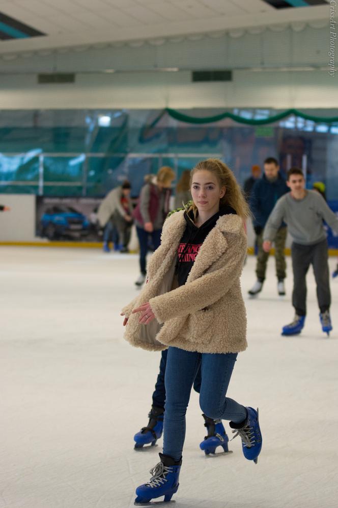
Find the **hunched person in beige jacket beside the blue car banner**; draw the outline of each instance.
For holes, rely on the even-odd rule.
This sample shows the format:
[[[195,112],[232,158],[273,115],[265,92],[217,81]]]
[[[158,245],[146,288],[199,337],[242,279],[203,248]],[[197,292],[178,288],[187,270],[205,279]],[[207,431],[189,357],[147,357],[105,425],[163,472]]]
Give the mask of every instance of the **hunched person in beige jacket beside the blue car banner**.
[[[103,233],[103,251],[110,252],[109,241],[116,244],[116,250],[128,252],[132,226],[131,185],[125,180],[122,185],[110,191],[101,202],[97,216]],[[114,231],[118,239],[114,238]]]

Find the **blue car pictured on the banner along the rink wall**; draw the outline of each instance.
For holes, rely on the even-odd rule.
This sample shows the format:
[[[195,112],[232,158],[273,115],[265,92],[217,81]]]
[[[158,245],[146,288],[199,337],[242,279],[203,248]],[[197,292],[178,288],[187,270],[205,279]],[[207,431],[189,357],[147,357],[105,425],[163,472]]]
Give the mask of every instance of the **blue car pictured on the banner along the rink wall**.
[[[53,206],[44,211],[40,219],[41,236],[55,240],[62,236],[86,236],[89,220],[85,215],[68,206]]]

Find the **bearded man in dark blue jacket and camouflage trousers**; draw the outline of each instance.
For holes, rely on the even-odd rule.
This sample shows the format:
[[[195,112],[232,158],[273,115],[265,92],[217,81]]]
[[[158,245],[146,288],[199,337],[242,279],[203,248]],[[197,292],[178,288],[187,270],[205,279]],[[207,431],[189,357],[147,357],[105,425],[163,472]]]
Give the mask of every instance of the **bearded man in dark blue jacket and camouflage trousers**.
[[[257,235],[258,256],[256,264],[257,281],[248,291],[250,296],[256,296],[263,287],[268,252],[263,250],[263,230],[273,210],[277,200],[289,191],[288,186],[281,174],[279,173],[279,165],[276,159],[268,157],[264,161],[264,174],[261,179],[257,180],[252,188],[250,197],[250,210],[253,215],[253,229]],[[287,237],[287,227],[283,222],[275,236],[275,261],[277,290],[279,295],[285,295],[284,279],[286,277],[285,262],[285,241]]]

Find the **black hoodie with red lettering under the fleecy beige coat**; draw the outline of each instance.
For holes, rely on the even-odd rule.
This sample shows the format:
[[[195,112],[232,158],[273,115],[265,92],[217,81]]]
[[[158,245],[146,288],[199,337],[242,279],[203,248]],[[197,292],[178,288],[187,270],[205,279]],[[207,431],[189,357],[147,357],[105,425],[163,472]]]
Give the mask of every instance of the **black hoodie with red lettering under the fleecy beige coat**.
[[[186,227],[178,246],[177,251],[177,262],[175,273],[178,278],[178,285],[183,286],[188,278],[192,265],[195,262],[196,256],[199,253],[202,243],[210,233],[218,218],[221,215],[235,214],[236,211],[229,205],[224,205],[219,209],[215,215],[210,217],[202,226],[197,227],[193,223],[192,211],[184,212],[184,218],[186,221]]]

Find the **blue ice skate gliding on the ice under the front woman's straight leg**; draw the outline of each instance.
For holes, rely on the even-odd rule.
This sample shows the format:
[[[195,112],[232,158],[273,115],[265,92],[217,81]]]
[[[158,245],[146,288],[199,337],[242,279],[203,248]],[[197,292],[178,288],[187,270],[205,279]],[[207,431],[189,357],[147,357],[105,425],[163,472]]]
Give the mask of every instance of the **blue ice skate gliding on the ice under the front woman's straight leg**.
[[[136,499],[134,504],[136,506],[151,506],[152,504],[164,504],[171,501],[173,495],[177,492],[179,487],[179,476],[182,464],[180,461],[168,455],[159,453],[160,460],[153,469],[150,470],[152,477],[147,484],[140,485],[136,489]],[[158,497],[164,496],[164,501],[154,501]]]

